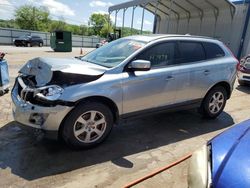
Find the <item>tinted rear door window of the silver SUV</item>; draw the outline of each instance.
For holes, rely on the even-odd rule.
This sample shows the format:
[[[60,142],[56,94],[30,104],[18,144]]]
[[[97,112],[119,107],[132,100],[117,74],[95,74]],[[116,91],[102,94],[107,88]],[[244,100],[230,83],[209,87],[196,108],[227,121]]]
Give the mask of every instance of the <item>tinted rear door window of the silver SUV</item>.
[[[199,42],[181,41],[178,43],[176,64],[191,63],[206,59],[204,48]]]

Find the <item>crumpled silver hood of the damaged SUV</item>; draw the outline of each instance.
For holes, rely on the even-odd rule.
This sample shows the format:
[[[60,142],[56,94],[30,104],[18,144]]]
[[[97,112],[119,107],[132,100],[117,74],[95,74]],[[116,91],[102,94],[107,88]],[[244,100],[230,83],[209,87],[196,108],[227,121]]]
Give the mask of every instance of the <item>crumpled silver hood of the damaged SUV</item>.
[[[37,86],[44,86],[51,82],[55,73],[68,73],[72,75],[100,76],[107,69],[95,64],[75,58],[42,58],[29,60],[19,71],[24,75],[33,75]],[[58,75],[58,74],[57,74]],[[63,74],[61,74],[63,75]],[[57,78],[59,79],[59,78]],[[61,79],[64,79],[63,77]]]

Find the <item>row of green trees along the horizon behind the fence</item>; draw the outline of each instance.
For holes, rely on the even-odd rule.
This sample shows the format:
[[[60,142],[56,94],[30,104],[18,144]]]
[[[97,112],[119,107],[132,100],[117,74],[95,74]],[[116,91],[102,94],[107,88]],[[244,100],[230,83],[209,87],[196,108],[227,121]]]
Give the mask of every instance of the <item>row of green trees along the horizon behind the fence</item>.
[[[31,5],[24,5],[16,10],[15,20],[0,20],[0,27],[44,32],[63,30],[70,31],[75,35],[99,35],[104,38],[108,36],[108,33],[114,32],[114,26],[107,14],[92,14],[89,18],[90,26],[68,24],[63,18],[51,20],[49,15],[49,11],[45,7],[37,8]],[[122,29],[123,37],[140,33],[140,30],[137,29],[132,29],[132,31],[128,27]],[[143,31],[143,34],[149,33],[151,32]]]

